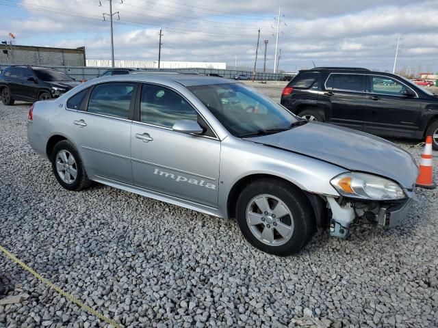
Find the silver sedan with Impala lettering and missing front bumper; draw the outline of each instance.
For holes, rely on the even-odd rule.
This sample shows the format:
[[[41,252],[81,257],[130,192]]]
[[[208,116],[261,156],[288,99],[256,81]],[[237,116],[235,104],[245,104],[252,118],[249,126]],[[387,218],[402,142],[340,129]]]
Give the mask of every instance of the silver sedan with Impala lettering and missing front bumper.
[[[92,79],[29,110],[29,142],[62,187],[93,181],[236,218],[262,251],[294,254],[317,229],[392,227],[418,169],[393,143],[302,120],[235,81],[184,74]]]

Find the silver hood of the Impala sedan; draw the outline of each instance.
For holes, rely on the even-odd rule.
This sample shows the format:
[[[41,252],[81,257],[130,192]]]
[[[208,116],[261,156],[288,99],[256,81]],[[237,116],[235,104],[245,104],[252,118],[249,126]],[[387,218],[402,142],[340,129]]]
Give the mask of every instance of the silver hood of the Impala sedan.
[[[412,189],[418,167],[409,152],[394,143],[331,124],[309,122],[290,130],[245,140],[304,154],[350,171],[390,178]]]

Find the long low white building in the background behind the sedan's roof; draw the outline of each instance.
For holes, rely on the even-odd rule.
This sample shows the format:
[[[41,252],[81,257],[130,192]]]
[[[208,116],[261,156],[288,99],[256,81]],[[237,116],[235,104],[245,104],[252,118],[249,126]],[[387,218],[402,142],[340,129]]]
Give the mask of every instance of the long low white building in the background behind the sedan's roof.
[[[111,67],[110,59],[86,59],[86,65],[91,67]],[[156,60],[114,60],[117,68],[158,68]],[[205,61],[162,61],[161,68],[213,68],[226,70],[227,63],[214,63]]]

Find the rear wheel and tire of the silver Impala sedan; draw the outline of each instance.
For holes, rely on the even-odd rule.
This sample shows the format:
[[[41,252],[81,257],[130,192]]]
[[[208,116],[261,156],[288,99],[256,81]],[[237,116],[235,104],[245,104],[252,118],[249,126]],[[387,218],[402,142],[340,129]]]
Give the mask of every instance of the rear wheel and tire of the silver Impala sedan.
[[[91,181],[88,180],[79,152],[70,141],[56,143],[51,162],[57,182],[65,189],[79,191],[90,186]]]

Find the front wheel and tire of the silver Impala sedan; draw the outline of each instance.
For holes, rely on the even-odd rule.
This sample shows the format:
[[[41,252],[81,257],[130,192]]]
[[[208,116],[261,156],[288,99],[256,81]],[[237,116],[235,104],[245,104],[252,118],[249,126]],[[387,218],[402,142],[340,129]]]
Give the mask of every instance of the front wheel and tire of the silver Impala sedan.
[[[248,184],[237,199],[236,216],[251,245],[277,256],[296,254],[315,232],[309,202],[282,180]]]

